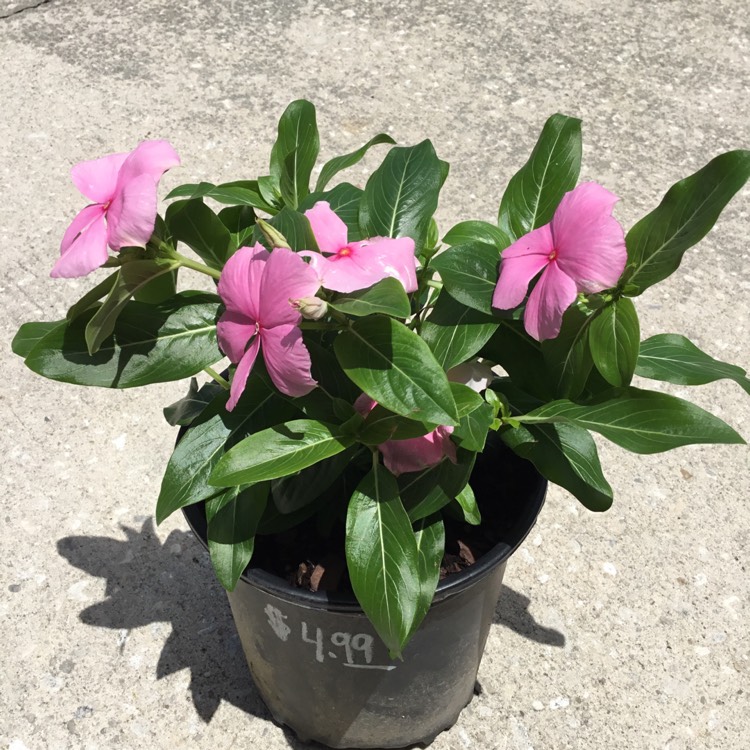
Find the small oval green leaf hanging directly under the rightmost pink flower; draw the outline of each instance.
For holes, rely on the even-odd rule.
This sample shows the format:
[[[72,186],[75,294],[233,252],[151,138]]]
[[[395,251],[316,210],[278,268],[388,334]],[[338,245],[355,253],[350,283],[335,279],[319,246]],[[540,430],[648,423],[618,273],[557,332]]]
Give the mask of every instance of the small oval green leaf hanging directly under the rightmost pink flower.
[[[591,321],[589,346],[594,365],[611,385],[630,385],[638,359],[641,328],[635,305],[621,297]]]

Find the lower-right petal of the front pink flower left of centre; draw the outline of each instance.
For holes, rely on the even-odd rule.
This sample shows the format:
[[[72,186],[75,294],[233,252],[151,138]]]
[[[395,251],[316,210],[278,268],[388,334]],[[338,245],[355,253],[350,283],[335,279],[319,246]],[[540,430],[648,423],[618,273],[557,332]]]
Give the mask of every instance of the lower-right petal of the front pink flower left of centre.
[[[310,352],[295,325],[261,329],[263,359],[274,385],[287,396],[304,396],[318,384],[310,372]]]

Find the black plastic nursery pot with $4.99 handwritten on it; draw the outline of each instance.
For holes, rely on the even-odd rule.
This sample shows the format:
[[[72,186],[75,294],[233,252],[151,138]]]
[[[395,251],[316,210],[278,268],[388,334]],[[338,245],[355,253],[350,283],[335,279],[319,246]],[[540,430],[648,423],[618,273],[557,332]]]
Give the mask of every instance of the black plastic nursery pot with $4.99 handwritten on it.
[[[228,594],[255,684],[274,719],[334,748],[429,744],[472,698],[505,565],[534,526],[547,482],[505,449],[471,484],[494,546],[448,576],[403,661],[392,661],[352,596],[293,588],[248,567]],[[184,509],[206,545],[203,505]]]

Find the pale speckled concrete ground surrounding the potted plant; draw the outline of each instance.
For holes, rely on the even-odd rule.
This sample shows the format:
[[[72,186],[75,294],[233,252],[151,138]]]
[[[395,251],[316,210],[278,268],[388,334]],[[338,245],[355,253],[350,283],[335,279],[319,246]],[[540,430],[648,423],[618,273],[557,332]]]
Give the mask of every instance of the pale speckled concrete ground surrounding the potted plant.
[[[75,388],[10,354],[21,322],[91,284],[48,278],[83,205],[72,164],[163,137],[183,167],[162,195],[253,176],[306,97],[324,157],[430,137],[452,164],[445,230],[495,216],[560,111],[584,120],[582,178],[630,226],[750,145],[749,31],[742,0],[0,0],[0,746],[310,747],[270,721],[185,523],[154,528],[174,440],[160,410],[185,384]],[[682,332],[750,367],[749,231],[745,190],[638,300],[644,338]],[[735,384],[689,395],[750,438]],[[549,493],[508,567],[483,693],[435,750],[750,747],[748,448],[601,453],[613,509]]]

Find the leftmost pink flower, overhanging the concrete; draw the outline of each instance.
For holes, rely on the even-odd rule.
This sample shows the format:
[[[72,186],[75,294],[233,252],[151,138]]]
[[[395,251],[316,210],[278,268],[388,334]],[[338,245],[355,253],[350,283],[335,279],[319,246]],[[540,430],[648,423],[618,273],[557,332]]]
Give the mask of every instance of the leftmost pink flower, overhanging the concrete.
[[[93,204],[68,227],[51,276],[85,276],[107,261],[107,245],[145,247],[156,221],[156,188],[170,167],[179,165],[167,141],[144,141],[129,154],[82,161],[73,183]]]

